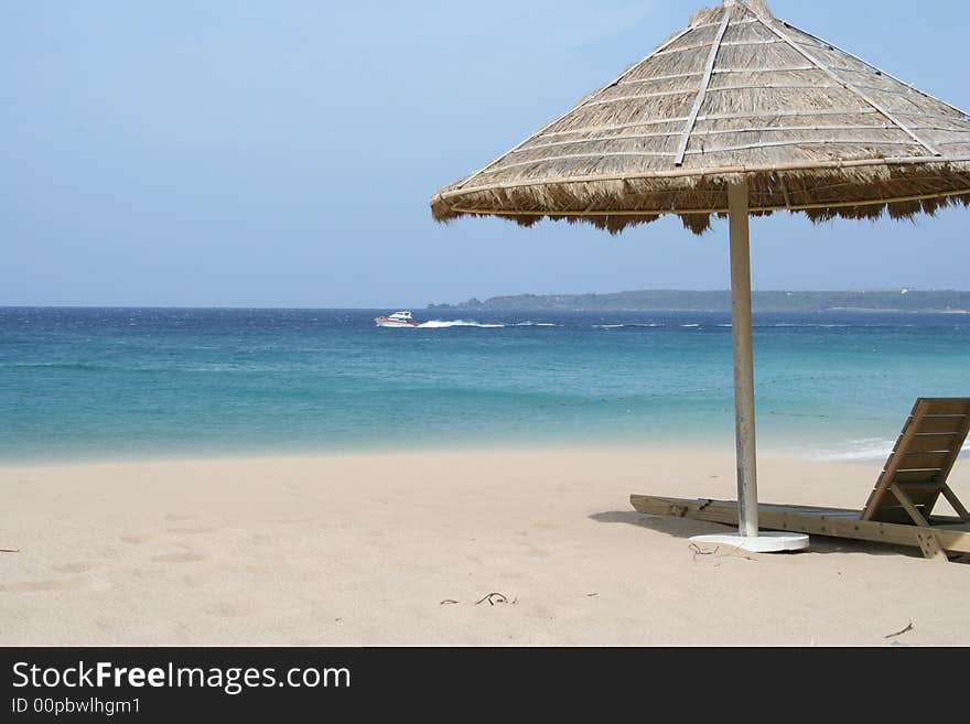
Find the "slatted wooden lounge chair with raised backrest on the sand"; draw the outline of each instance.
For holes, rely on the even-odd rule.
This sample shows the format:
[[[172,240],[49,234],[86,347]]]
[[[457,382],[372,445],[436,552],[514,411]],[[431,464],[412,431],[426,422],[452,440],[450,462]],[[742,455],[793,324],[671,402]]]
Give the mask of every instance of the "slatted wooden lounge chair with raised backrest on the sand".
[[[970,512],[947,485],[968,431],[970,398],[920,398],[862,510],[759,505],[759,526],[915,545],[939,561],[970,553]],[[941,496],[956,517],[934,515]],[[737,525],[734,501],[633,495],[630,503],[648,515]]]

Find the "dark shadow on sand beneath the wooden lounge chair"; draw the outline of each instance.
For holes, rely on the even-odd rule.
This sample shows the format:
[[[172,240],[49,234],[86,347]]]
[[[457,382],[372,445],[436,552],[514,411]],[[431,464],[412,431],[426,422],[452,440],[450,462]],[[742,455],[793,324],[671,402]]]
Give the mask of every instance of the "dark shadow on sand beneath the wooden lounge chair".
[[[635,526],[637,528],[647,528],[649,530],[656,530],[659,533],[672,536],[673,538],[683,538],[685,540],[693,536],[709,536],[711,533],[724,533],[736,530],[730,526],[708,522],[705,520],[672,518],[669,516],[648,516],[643,512],[637,512],[636,510],[594,512],[590,516],[590,520],[595,520],[596,522],[602,523],[622,523],[626,526]],[[909,548],[908,545],[891,545],[886,543],[852,540],[849,538],[829,538],[827,536],[811,536],[811,545],[809,549],[793,554],[802,555],[811,553],[905,555],[907,558],[923,559],[923,553],[920,553],[918,549]],[[970,563],[970,556],[951,559],[951,562]]]

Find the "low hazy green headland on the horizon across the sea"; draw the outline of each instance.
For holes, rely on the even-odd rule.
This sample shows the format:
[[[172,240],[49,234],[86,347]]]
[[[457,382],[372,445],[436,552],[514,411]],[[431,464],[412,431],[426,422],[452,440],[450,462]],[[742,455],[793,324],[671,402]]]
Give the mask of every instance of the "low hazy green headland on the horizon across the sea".
[[[755,312],[949,312],[970,313],[970,292],[910,289],[856,292],[754,292]],[[643,290],[613,294],[516,294],[484,302],[429,304],[429,310],[562,310],[629,312],[729,312],[729,291]]]

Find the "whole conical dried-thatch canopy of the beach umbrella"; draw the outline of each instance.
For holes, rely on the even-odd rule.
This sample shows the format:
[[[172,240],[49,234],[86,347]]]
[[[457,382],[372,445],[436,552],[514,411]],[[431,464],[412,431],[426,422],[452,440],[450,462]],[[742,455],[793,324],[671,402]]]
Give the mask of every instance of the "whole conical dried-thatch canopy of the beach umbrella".
[[[746,177],[752,214],[894,218],[970,205],[970,116],[724,0],[610,85],[431,198],[434,218],[543,217],[700,234]]]

